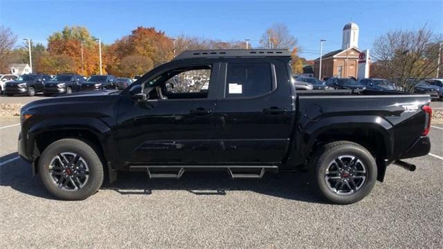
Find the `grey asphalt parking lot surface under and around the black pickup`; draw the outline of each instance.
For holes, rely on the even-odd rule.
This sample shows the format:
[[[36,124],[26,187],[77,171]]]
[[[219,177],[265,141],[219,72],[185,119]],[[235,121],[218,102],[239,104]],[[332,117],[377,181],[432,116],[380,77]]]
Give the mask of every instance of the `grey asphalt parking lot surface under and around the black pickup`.
[[[17,122],[0,120],[0,248],[443,246],[441,124],[431,129],[433,156],[407,160],[415,172],[392,165],[363,201],[329,205],[296,172],[261,180],[124,173],[85,201],[57,201],[17,158]]]

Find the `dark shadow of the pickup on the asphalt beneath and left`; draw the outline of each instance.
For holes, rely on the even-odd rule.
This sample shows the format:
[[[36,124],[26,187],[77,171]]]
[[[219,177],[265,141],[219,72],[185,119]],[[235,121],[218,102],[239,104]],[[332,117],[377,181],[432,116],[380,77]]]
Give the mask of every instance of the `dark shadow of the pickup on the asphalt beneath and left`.
[[[0,157],[0,185],[45,199],[54,199],[38,176],[32,177],[30,165],[18,158],[17,153]],[[231,179],[228,172],[185,172],[180,179],[149,179],[144,172],[119,172],[118,180],[105,184],[102,190],[114,190],[119,194],[152,194],[155,190],[185,190],[196,195],[217,195],[227,192],[251,191],[283,199],[321,203],[306,182],[302,172],[268,173],[258,179]]]

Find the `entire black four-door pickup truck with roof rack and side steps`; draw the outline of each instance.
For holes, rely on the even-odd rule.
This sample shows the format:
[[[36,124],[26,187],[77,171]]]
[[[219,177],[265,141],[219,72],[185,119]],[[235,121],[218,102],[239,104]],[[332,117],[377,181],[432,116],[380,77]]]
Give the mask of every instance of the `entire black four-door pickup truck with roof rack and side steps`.
[[[80,200],[118,171],[179,178],[306,172],[320,196],[354,203],[391,163],[428,154],[429,95],[296,92],[287,50],[186,51],[124,91],[73,93],[21,109],[19,154],[49,192]]]

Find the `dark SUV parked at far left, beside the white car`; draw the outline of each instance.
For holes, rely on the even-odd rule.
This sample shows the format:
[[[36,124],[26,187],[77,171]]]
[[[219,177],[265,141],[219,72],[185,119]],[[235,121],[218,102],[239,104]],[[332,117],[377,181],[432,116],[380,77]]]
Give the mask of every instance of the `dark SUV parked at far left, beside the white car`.
[[[43,91],[43,84],[48,80],[51,80],[51,76],[44,74],[30,73],[21,75],[17,80],[6,82],[4,91],[8,96],[15,94],[34,96],[35,93]]]

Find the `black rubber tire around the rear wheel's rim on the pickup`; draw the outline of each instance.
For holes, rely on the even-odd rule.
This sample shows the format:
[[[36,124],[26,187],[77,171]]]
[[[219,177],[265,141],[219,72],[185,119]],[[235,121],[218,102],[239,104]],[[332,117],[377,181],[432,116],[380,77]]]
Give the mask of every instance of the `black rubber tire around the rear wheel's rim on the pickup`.
[[[339,177],[340,180],[326,180],[326,171],[329,170],[330,164],[333,161],[336,161],[338,157],[346,157],[353,156],[354,158],[358,158],[361,162],[359,163],[359,167],[365,167],[365,173],[361,173],[361,175],[365,174],[365,179],[360,178],[359,180],[355,180],[356,183],[361,183],[361,186],[357,189],[356,184],[354,182],[354,178],[357,178],[357,174],[352,175],[348,171],[344,171],[338,173],[334,178]],[[325,199],[325,201],[334,204],[352,204],[360,201],[370,194],[372,188],[377,181],[377,164],[375,163],[374,157],[370,152],[365,149],[365,147],[356,144],[355,142],[349,141],[338,141],[331,142],[327,145],[321,147],[316,154],[314,154],[313,158],[311,158],[311,167],[314,169],[314,186],[316,187],[316,191],[319,196]],[[338,165],[338,164],[337,164]],[[348,165],[352,165],[352,163],[348,163]],[[362,166],[363,165],[363,166]],[[350,171],[354,171],[354,169],[350,169]],[[330,176],[330,175],[328,175]],[[350,184],[350,179],[352,178],[352,184]],[[342,190],[336,190],[335,184],[337,181],[340,181],[339,185],[345,181],[346,185],[343,187],[343,191],[349,189],[347,186],[352,186],[356,190],[349,189],[349,193],[337,193]],[[334,185],[334,187],[332,187]]]

